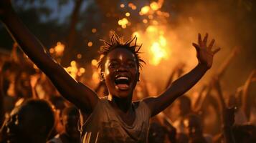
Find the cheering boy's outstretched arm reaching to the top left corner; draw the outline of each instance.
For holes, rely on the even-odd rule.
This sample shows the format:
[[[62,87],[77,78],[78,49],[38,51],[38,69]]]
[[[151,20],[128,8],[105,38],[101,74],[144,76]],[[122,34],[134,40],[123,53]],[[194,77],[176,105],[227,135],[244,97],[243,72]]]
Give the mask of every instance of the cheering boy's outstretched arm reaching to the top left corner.
[[[0,19],[24,53],[49,77],[60,94],[84,112],[91,112],[98,103],[97,94],[72,79],[70,74],[47,54],[44,46],[15,14],[10,0],[0,1]]]

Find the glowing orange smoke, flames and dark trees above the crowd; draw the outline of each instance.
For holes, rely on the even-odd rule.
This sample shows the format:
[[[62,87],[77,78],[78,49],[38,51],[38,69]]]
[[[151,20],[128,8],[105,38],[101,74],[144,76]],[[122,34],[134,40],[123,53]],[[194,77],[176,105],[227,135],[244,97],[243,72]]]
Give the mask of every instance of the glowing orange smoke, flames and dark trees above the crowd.
[[[125,40],[136,35],[138,44],[143,44],[141,56],[147,64],[141,76],[157,87],[152,94],[165,88],[174,66],[185,64],[185,73],[196,66],[196,51],[191,43],[197,41],[198,33],[208,32],[209,40],[216,40],[214,48],[222,48],[214,58],[212,70],[199,85],[209,82],[209,77],[235,48],[237,54],[225,71],[223,88],[234,92],[256,67],[256,1],[253,0],[14,0],[12,3],[22,21],[55,59],[70,72],[80,70],[85,77],[91,77],[97,70],[89,67],[97,64],[98,50],[103,44],[99,39],[108,40],[110,30]],[[1,57],[11,52],[13,44],[0,25]]]

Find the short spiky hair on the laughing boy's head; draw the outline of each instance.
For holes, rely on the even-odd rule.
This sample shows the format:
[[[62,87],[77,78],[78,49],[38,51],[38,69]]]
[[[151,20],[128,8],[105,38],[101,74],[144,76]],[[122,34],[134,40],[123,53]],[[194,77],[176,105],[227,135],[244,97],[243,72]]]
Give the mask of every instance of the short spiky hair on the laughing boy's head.
[[[142,68],[142,64],[146,64],[143,59],[139,56],[141,45],[137,45],[137,37],[134,36],[133,39],[130,39],[128,41],[123,42],[123,37],[119,37],[118,34],[115,34],[114,31],[110,31],[110,41],[105,41],[101,39],[100,41],[103,41],[103,46],[100,46],[100,51],[99,53],[103,55],[102,58],[100,58],[98,62],[98,68],[102,71],[104,69],[104,64],[106,60],[106,56],[110,51],[113,49],[118,49],[118,48],[123,48],[123,49],[128,49],[131,51],[132,54],[134,54],[136,58],[136,63],[138,67]],[[134,41],[134,44],[132,45]]]

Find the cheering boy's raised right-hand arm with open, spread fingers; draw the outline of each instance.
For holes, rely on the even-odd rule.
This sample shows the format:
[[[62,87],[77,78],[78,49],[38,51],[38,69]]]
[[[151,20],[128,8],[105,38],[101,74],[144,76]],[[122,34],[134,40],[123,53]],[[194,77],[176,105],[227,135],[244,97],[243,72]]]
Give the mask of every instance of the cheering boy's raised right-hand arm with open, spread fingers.
[[[199,34],[198,44],[193,43],[193,46],[196,48],[196,56],[199,61],[199,64],[197,64],[194,69],[173,82],[165,92],[160,94],[160,96],[144,99],[148,104],[148,107],[151,109],[151,116],[154,116],[163,111],[163,109],[166,109],[166,107],[174,102],[176,98],[191,89],[191,87],[193,87],[194,84],[203,77],[206,71],[211,68],[213,56],[217,51],[219,51],[219,48],[212,51],[214,39],[211,41],[209,46],[207,46],[207,38],[208,34],[206,34],[204,40],[202,40],[201,34]]]

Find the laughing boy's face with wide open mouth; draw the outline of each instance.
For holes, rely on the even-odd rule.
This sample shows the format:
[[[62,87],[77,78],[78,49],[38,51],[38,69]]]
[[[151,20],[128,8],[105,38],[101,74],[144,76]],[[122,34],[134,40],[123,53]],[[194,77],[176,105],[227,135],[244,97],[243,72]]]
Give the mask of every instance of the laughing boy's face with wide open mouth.
[[[111,95],[119,98],[132,96],[139,75],[136,57],[128,49],[113,49],[106,57],[103,75]]]

